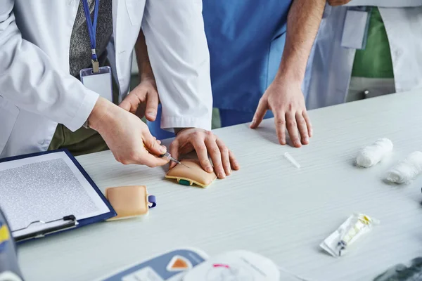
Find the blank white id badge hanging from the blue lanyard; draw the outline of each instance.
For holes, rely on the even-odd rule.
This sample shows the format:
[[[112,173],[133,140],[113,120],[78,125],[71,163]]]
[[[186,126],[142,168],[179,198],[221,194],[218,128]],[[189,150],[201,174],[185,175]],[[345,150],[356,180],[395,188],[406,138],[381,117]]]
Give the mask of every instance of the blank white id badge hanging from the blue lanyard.
[[[99,67],[99,72],[95,73],[92,68],[85,68],[79,72],[82,84],[91,91],[98,93],[103,98],[113,103],[113,84],[111,68],[109,66]]]

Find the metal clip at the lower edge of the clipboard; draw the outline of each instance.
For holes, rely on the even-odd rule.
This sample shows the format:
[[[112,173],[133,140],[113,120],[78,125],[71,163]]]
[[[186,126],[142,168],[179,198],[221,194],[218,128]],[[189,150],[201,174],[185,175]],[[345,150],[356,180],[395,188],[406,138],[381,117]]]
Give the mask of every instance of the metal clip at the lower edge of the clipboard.
[[[59,223],[62,221],[62,223]],[[14,233],[21,232],[23,230],[27,230],[28,228],[31,228],[34,224],[41,224],[45,227],[37,230],[35,230],[33,233],[23,233],[21,235],[13,235]],[[41,238],[45,235],[49,235],[51,233],[57,233],[59,231],[68,230],[70,228],[75,228],[78,225],[78,221],[74,215],[70,216],[63,216],[63,218],[58,218],[53,221],[32,221],[32,223],[28,224],[25,228],[20,228],[17,230],[13,230],[11,233],[13,237],[15,238],[16,242],[22,242],[25,240],[30,240],[33,238]]]

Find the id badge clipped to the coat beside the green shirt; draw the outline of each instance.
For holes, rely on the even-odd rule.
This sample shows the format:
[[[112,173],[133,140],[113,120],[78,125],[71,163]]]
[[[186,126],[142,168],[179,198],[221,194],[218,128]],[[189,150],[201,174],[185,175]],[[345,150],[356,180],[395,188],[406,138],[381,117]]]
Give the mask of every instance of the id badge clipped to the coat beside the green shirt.
[[[343,27],[341,46],[344,48],[355,48],[357,50],[364,49],[368,37],[370,18],[371,9],[360,7],[348,8]]]

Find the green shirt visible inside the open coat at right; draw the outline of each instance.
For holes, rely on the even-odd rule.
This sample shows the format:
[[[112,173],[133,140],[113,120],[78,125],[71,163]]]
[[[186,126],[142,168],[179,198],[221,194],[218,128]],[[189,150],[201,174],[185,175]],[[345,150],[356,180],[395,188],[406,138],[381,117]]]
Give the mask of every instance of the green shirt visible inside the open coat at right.
[[[377,7],[372,7],[370,17],[366,47],[356,50],[352,77],[394,78],[390,43]]]

